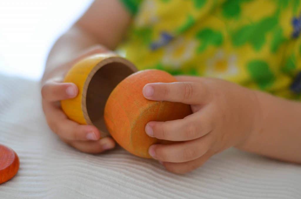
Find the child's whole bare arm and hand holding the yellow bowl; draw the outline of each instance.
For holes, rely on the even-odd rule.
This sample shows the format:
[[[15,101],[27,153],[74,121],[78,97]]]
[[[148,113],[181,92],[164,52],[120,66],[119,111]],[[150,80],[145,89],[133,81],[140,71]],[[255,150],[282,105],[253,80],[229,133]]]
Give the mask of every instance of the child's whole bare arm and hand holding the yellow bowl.
[[[130,22],[130,14],[118,0],[95,1],[88,11],[54,44],[42,78],[42,106],[47,123],[64,142],[82,152],[99,153],[113,148],[115,142],[100,139],[95,126],[79,125],[62,112],[59,101],[73,98],[78,89],[73,83],[61,83],[66,72],[78,60],[113,50]],[[107,49],[108,48],[108,49]]]

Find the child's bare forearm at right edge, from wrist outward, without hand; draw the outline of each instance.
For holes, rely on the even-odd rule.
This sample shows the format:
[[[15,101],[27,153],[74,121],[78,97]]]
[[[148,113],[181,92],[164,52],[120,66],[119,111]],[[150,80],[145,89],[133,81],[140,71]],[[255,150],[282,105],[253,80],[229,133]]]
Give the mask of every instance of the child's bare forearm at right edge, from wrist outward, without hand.
[[[255,127],[237,148],[301,163],[301,103],[254,92],[259,103]]]

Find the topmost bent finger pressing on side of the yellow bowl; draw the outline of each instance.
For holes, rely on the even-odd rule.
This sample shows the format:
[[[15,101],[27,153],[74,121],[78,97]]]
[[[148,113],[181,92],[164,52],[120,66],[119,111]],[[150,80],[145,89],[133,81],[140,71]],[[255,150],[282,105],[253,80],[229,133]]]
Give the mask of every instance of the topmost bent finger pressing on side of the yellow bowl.
[[[41,90],[42,98],[48,102],[74,98],[78,94],[78,88],[73,83],[46,82]]]

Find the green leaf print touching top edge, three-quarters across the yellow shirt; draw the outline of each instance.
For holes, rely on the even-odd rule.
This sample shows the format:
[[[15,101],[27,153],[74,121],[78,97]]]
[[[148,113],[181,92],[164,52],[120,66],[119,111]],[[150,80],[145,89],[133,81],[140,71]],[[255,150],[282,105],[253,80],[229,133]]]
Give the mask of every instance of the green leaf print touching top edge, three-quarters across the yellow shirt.
[[[240,16],[240,5],[250,0],[227,0],[222,5],[222,14],[226,18],[236,18]]]

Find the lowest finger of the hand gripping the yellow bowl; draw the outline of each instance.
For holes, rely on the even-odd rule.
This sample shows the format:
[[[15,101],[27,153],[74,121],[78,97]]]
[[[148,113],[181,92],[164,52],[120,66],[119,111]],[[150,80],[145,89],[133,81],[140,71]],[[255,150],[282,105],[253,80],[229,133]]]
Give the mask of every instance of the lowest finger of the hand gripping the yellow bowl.
[[[97,141],[66,141],[69,145],[81,152],[98,154],[115,147],[115,142],[110,137],[104,137]]]

